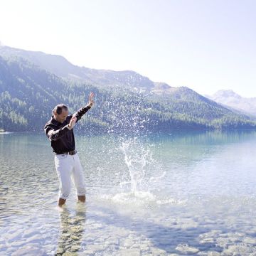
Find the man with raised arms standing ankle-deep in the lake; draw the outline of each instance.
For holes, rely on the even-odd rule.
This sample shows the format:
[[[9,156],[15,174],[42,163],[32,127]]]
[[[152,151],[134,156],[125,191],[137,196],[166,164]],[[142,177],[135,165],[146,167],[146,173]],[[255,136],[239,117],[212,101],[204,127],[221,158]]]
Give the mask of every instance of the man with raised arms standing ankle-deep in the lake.
[[[94,93],[90,93],[89,103],[73,115],[68,114],[68,107],[58,104],[53,109],[53,116],[46,123],[44,131],[50,139],[55,154],[55,169],[60,182],[58,206],[63,206],[71,190],[71,177],[78,193],[78,201],[85,203],[85,178],[78,153],[75,150],[73,127],[92,107]]]

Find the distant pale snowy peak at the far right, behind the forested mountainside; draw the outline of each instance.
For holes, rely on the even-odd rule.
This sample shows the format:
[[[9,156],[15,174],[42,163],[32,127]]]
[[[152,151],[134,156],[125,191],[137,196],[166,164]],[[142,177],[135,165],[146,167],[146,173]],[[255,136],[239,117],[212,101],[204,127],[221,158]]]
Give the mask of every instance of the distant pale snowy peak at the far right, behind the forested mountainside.
[[[245,112],[246,114],[252,114],[256,117],[256,97],[241,97],[237,93],[233,92],[233,90],[218,90],[214,95],[207,97],[222,105],[231,107],[234,110]]]

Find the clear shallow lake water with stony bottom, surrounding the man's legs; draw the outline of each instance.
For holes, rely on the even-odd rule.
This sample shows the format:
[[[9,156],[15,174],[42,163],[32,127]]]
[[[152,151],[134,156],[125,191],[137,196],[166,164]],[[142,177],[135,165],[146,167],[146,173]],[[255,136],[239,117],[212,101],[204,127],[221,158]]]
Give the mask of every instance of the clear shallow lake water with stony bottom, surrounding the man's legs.
[[[256,131],[76,135],[58,208],[44,134],[0,134],[0,255],[256,255]]]

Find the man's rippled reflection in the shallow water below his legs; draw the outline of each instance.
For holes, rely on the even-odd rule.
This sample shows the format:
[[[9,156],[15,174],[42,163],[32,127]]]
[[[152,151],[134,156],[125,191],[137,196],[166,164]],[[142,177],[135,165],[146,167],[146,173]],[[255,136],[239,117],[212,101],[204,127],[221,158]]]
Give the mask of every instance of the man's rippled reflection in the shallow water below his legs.
[[[86,220],[86,208],[78,203],[75,216],[72,216],[68,208],[60,211],[60,236],[55,255],[63,255],[65,252],[78,252],[82,242],[82,234]]]

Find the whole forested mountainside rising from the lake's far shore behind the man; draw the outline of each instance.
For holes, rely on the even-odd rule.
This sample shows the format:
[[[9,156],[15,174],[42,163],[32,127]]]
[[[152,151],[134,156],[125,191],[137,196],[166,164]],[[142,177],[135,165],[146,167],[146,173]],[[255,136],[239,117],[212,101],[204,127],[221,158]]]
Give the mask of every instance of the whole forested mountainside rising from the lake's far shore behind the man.
[[[11,53],[12,49],[0,48],[0,129],[42,131],[55,105],[63,102],[75,112],[87,103],[91,91],[96,94],[95,107],[78,124],[87,132],[256,127],[245,114],[228,110],[188,87],[153,82],[134,71],[90,70],[61,56],[18,49]],[[43,68],[48,60],[51,70]],[[81,74],[75,77],[79,70],[83,75],[83,70],[89,70],[86,74],[91,79]]]

